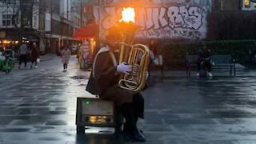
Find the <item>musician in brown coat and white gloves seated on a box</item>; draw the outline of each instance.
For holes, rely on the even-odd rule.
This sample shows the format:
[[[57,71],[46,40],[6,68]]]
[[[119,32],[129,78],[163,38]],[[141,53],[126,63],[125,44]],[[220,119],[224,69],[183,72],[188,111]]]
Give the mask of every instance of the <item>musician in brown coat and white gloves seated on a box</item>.
[[[118,87],[119,74],[131,72],[130,65],[117,64],[113,51],[114,36],[106,36],[106,46],[102,47],[94,59],[93,70],[90,74],[86,90],[99,98],[115,102],[126,122],[123,132],[126,138],[134,142],[146,142],[141,130],[138,130],[138,118],[144,118],[144,98],[141,94],[132,94],[130,90]]]

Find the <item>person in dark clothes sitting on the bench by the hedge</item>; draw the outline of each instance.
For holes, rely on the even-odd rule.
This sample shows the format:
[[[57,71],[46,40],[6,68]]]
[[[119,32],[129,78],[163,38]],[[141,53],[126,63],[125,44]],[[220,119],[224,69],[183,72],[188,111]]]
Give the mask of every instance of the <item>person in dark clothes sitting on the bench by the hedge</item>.
[[[197,76],[200,76],[200,70],[205,69],[206,74],[209,77],[212,77],[213,74],[211,73],[212,65],[211,65],[211,52],[210,49],[207,48],[207,46],[203,46],[201,50],[198,51],[198,74]]]

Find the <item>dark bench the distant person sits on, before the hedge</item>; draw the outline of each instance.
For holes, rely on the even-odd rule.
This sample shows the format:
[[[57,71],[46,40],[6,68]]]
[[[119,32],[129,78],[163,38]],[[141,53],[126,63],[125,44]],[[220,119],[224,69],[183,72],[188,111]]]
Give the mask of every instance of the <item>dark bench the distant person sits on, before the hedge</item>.
[[[230,68],[230,75],[234,73],[236,75],[235,70],[235,60],[231,58],[231,55],[212,55],[211,56],[214,65],[213,69],[223,69]],[[198,61],[198,55],[186,55],[186,74],[190,76],[191,67],[196,67]]]

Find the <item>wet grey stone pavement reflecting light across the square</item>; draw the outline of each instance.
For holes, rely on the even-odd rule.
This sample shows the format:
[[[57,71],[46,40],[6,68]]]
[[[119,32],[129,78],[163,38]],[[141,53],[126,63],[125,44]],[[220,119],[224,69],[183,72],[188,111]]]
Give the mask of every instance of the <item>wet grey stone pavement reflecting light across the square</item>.
[[[78,69],[75,57],[63,73],[54,56],[38,69],[0,73],[0,144],[131,143],[122,134],[76,134],[76,98],[93,97],[84,90],[89,74]],[[154,86],[142,92],[146,118],[138,126],[145,143],[256,143],[255,74],[238,70],[232,77],[216,70],[209,79],[155,73]]]

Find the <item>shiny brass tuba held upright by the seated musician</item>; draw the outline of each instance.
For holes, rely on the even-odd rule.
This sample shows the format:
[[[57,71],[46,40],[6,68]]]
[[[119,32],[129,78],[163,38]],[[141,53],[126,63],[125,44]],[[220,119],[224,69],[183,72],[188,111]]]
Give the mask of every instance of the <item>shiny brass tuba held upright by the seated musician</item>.
[[[132,66],[130,74],[122,74],[118,81],[118,86],[132,93],[143,90],[146,84],[147,69],[150,62],[150,50],[148,46],[142,44],[132,44],[135,31],[138,26],[122,31],[120,42],[120,53],[118,63],[126,62]]]

